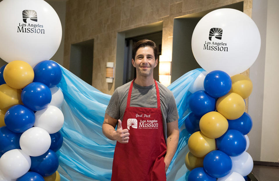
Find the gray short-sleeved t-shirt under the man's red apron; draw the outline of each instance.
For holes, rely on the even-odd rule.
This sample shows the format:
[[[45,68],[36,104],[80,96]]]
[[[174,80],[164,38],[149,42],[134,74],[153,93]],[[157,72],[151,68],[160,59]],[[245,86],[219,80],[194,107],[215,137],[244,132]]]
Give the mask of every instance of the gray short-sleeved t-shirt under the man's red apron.
[[[132,81],[124,84],[115,89],[114,93],[110,98],[105,113],[110,117],[115,119],[123,120],[124,112],[127,106],[128,92],[130,84]],[[172,92],[166,88],[164,85],[157,81],[159,93],[160,93],[160,103],[161,112],[163,117],[164,126],[164,136],[167,140],[167,122],[173,122],[178,120],[178,111],[176,108],[176,103],[174,95]],[[130,106],[132,107],[147,107],[147,108],[157,108],[157,96],[155,83],[151,86],[142,87],[138,84],[133,84],[132,95]]]

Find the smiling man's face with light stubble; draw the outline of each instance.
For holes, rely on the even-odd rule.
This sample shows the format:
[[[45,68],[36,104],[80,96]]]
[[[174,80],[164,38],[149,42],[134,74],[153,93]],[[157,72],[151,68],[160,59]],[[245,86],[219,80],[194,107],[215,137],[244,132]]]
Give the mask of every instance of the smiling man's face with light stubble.
[[[151,47],[146,46],[139,48],[132,59],[132,64],[137,70],[137,75],[148,77],[153,75],[153,69],[157,66],[158,59],[155,59],[154,51]]]

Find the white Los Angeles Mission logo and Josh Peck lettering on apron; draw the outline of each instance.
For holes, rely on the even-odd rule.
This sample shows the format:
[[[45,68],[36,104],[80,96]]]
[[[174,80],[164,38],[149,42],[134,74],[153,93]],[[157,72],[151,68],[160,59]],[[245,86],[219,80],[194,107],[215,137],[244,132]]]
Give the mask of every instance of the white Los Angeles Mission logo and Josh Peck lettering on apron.
[[[140,117],[139,124],[137,119],[129,118],[127,120],[127,128],[130,130],[130,126],[135,129],[158,129],[158,120],[149,120],[149,115],[146,114],[136,114],[136,117]]]

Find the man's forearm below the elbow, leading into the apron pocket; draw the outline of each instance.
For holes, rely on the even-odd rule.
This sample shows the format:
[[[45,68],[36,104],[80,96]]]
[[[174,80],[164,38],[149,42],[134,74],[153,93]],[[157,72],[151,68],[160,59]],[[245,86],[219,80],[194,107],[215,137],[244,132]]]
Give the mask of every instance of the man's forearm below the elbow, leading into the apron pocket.
[[[171,133],[171,135],[169,135],[167,138],[167,153],[164,158],[164,162],[167,167],[169,167],[169,164],[171,163],[171,160],[174,157],[174,154],[176,152],[178,139],[179,139],[178,130],[173,131],[173,133]]]

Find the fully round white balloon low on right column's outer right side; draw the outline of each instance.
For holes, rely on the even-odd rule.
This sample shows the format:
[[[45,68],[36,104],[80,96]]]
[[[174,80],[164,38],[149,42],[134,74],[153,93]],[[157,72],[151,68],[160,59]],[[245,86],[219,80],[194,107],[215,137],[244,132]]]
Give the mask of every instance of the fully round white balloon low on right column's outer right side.
[[[249,153],[244,151],[241,155],[232,157],[232,171],[243,177],[248,175],[253,169],[253,159]]]

